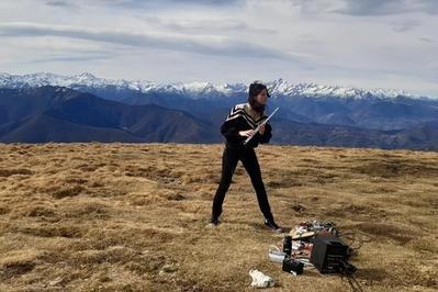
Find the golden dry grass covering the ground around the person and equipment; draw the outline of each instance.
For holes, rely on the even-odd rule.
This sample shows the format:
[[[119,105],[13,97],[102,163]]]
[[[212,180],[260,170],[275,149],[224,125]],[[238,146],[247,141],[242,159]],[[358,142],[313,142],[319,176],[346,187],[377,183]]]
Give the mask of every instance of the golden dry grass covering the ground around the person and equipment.
[[[206,228],[223,145],[0,145],[0,291],[349,291],[268,261],[242,162],[223,224]],[[332,220],[372,237],[352,262],[364,291],[433,291],[438,278],[438,154],[262,145],[277,221]]]

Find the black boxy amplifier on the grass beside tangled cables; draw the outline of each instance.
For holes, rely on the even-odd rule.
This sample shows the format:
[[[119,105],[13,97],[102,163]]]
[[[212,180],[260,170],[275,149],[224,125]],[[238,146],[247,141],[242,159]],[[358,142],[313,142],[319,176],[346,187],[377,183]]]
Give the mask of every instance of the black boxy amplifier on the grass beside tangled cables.
[[[345,268],[348,246],[336,236],[313,238],[311,262],[321,273],[338,273]]]

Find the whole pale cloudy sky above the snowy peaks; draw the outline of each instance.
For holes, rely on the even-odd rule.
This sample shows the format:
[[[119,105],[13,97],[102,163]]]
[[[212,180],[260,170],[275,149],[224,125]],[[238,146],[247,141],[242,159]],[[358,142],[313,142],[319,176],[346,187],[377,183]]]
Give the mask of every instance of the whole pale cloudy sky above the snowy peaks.
[[[2,0],[0,71],[438,97],[435,0]]]

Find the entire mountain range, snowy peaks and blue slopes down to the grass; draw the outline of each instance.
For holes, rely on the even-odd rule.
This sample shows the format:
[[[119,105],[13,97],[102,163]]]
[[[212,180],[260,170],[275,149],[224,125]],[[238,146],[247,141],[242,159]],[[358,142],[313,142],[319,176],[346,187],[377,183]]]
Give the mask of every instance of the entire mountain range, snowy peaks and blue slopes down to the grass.
[[[438,99],[403,91],[266,82],[276,143],[438,149]],[[0,142],[222,142],[247,85],[0,74]],[[68,131],[66,131],[68,130]],[[183,134],[181,134],[183,133]]]

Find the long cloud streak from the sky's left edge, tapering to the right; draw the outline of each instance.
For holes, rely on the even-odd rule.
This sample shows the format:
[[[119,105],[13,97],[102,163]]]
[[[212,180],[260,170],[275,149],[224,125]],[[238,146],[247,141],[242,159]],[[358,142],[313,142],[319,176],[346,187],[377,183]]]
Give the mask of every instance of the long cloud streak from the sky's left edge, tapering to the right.
[[[91,42],[104,42],[122,46],[153,47],[206,55],[280,58],[284,61],[299,59],[290,53],[220,35],[180,35],[173,33],[128,32],[122,30],[92,30],[88,27],[18,22],[0,23],[0,36],[58,36]]]

